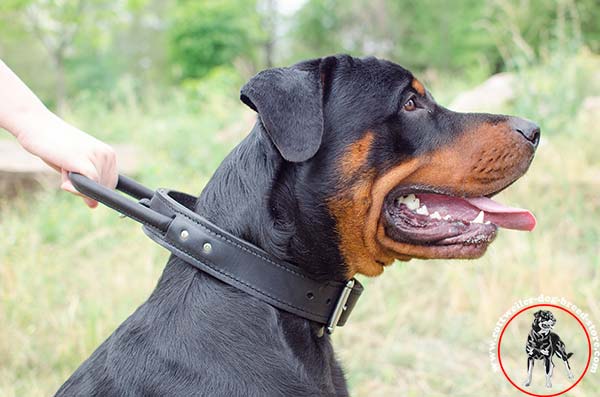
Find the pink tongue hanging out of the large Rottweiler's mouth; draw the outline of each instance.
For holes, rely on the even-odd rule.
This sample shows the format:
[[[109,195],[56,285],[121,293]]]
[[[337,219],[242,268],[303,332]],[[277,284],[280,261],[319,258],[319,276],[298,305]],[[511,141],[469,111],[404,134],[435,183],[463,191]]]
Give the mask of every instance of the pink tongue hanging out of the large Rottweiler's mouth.
[[[507,207],[487,197],[465,198],[464,200],[483,211],[486,221],[489,220],[500,227],[528,231],[535,228],[535,217],[526,209]]]

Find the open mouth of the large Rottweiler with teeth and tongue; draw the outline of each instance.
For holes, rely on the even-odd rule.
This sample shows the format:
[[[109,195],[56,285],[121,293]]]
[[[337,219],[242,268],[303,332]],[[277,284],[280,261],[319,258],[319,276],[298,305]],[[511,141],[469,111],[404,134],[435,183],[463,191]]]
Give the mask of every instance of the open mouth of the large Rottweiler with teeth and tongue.
[[[486,247],[498,228],[531,231],[526,209],[488,197],[462,198],[426,189],[396,189],[384,203],[385,233],[396,242],[426,246]]]

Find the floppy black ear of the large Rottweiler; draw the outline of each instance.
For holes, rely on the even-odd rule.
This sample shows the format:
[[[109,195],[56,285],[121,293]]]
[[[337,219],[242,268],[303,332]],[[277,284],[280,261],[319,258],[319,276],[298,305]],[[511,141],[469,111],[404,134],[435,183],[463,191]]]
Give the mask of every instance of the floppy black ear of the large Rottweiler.
[[[242,87],[240,99],[258,113],[285,160],[302,162],[317,153],[323,138],[323,82],[318,67],[264,70]]]

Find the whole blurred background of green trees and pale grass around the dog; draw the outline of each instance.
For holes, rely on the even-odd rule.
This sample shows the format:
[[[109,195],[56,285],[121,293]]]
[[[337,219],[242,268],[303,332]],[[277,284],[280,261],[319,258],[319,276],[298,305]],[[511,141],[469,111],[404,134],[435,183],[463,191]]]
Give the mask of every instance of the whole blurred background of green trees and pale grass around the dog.
[[[334,336],[352,395],[520,395],[488,359],[513,302],[565,296],[600,326],[597,0],[0,2],[0,59],[66,120],[127,147],[126,171],[153,187],[199,193],[254,122],[241,85],[333,53],[398,62],[453,109],[541,125],[531,170],[501,194],[537,229],[502,231],[480,260],[413,260],[364,280]],[[167,253],[3,153],[0,396],[46,396],[146,299]],[[589,374],[569,396],[599,389]]]

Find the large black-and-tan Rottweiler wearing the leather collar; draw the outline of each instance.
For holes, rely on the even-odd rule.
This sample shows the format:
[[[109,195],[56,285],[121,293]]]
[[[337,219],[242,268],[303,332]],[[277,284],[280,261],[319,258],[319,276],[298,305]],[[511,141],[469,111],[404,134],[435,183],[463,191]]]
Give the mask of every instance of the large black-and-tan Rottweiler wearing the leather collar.
[[[258,121],[196,210],[315,278],[377,275],[394,258],[475,258],[498,225],[533,227],[487,198],[529,167],[531,122],[452,112],[376,58],[266,70],[241,99]],[[346,396],[320,328],[172,257],[57,395]]]

